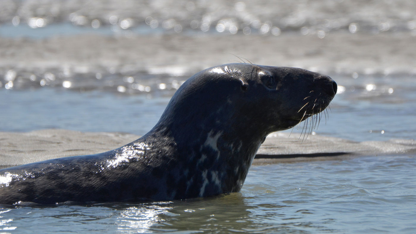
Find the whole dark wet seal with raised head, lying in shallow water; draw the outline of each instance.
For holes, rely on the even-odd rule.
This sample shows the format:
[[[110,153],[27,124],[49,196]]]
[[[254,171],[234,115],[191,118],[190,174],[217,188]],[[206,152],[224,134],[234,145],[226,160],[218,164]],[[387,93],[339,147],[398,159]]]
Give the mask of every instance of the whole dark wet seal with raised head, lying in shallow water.
[[[175,200],[239,192],[267,134],[323,111],[328,76],[225,64],[189,78],[146,135],[95,155],[0,170],[0,204]]]

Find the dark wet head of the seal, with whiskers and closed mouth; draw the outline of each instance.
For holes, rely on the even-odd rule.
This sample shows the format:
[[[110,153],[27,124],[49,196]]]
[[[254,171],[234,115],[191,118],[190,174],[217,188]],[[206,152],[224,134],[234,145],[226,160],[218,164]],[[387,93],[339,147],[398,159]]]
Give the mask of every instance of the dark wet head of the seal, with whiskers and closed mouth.
[[[337,84],[329,76],[305,69],[224,64],[188,79],[161,121],[190,113],[178,123],[186,127],[184,123],[198,113],[198,121],[210,122],[207,126],[235,123],[229,127],[264,137],[323,111],[336,92]]]

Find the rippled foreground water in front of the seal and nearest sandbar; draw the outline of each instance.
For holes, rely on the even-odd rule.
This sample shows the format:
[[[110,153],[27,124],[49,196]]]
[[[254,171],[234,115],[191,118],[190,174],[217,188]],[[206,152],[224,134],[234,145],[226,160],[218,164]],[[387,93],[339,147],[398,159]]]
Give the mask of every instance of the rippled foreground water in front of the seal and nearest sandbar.
[[[413,233],[414,156],[253,166],[241,193],[0,208],[4,232]],[[47,227],[47,229],[45,229]]]

